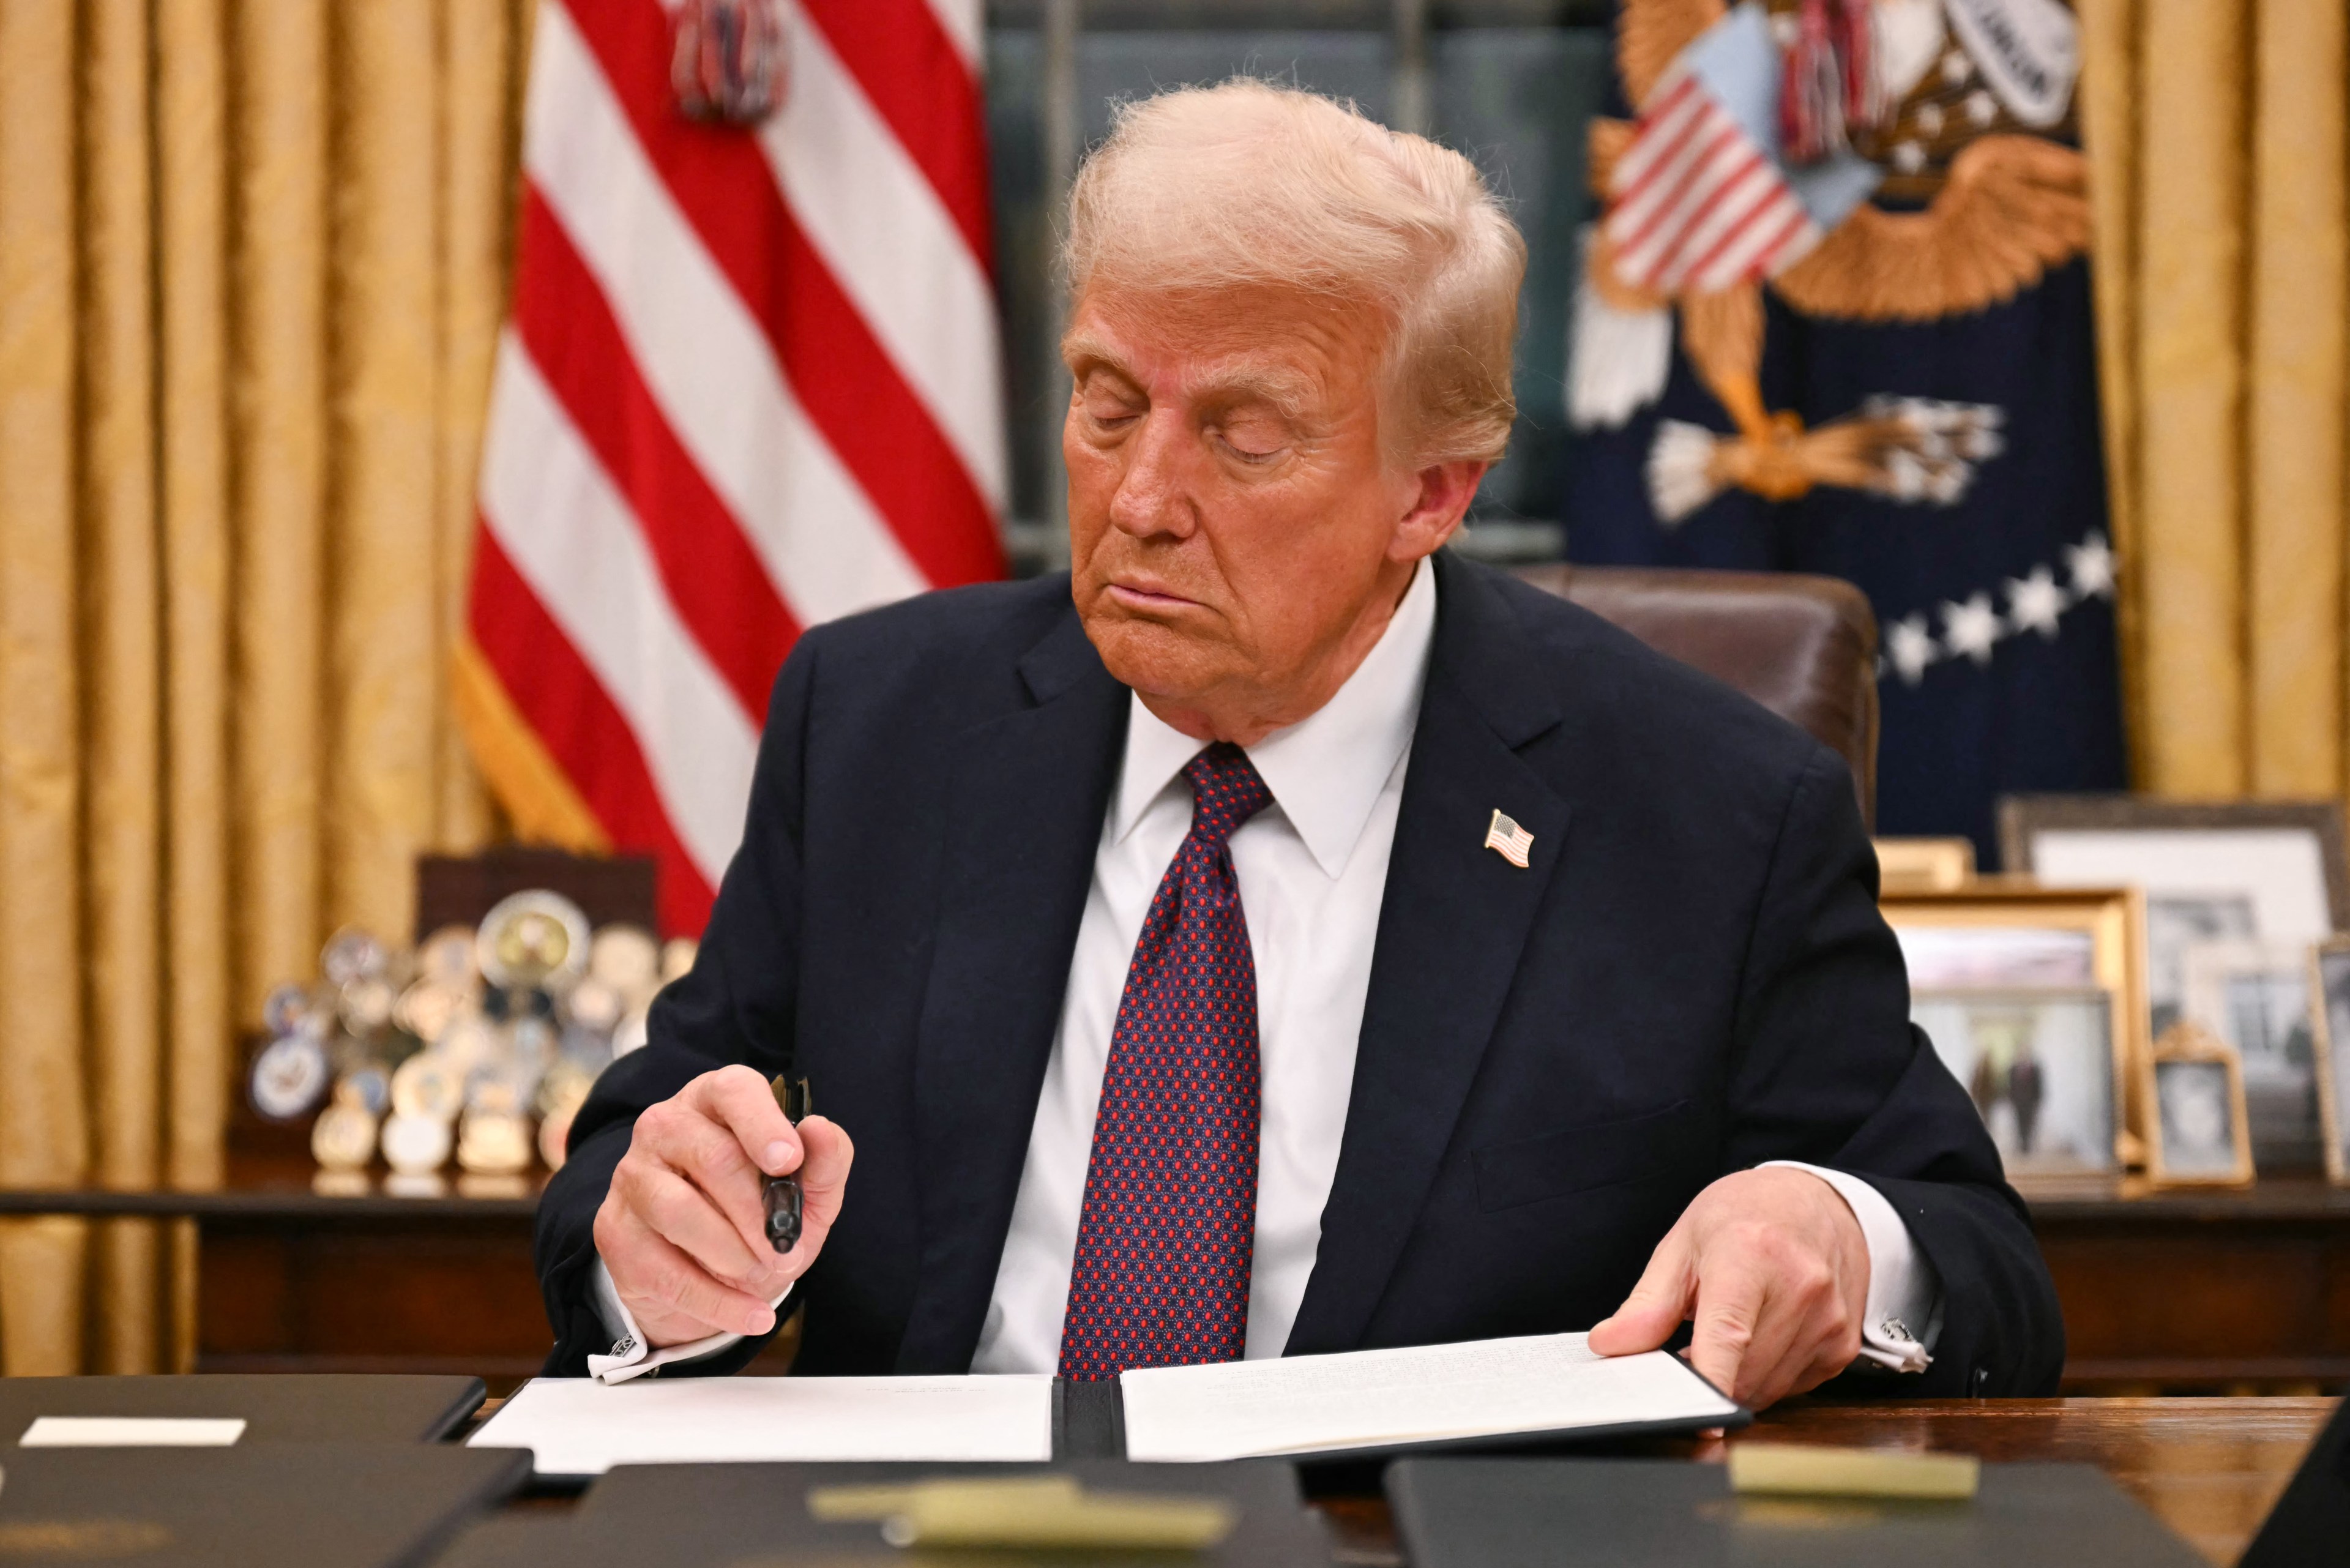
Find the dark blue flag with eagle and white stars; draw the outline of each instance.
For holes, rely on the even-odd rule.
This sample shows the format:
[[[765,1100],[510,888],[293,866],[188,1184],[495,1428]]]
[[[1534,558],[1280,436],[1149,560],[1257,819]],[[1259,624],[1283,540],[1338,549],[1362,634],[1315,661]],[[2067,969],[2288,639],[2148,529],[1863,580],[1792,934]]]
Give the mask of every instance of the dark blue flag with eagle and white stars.
[[[1878,832],[1972,837],[1986,867],[2002,795],[2127,783],[2070,12],[2019,5],[1904,9],[1927,31],[1887,35],[1889,108],[1849,132],[1880,188],[1730,301],[1744,317],[1643,299],[1593,230],[1563,473],[1574,562],[1856,583],[1880,625]],[[1751,31],[1760,7],[1739,9]],[[1619,38],[1654,52],[1673,16],[1624,0]],[[1636,68],[1654,61],[1619,47],[1654,103]],[[1596,183],[1640,129],[1596,127]]]

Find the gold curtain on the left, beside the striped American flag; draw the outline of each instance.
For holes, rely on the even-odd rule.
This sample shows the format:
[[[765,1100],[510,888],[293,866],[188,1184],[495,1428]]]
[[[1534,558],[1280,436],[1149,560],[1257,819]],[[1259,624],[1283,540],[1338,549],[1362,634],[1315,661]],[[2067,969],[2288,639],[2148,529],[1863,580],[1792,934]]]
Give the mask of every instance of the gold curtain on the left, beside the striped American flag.
[[[202,1185],[327,931],[494,832],[449,715],[526,0],[0,0],[0,1185]],[[0,1225],[0,1368],[193,1232]]]

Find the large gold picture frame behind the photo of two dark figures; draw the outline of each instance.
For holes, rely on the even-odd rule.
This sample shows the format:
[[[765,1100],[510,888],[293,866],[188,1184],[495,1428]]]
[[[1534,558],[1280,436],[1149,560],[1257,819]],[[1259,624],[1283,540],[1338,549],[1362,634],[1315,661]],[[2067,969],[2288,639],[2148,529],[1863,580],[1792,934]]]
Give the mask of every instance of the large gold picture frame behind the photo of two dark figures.
[[[1986,973],[1965,987],[1946,976],[1911,976],[1913,990],[2035,990],[2061,994],[2089,985],[2110,999],[2113,1145],[2124,1168],[2146,1161],[2153,1100],[2141,1065],[2153,1060],[2146,1027],[2146,903],[2136,889],[2042,889],[2023,882],[1983,879],[1965,889],[1887,891],[1880,900],[1894,931],[1979,933],[2084,933],[2089,964],[2082,976]]]

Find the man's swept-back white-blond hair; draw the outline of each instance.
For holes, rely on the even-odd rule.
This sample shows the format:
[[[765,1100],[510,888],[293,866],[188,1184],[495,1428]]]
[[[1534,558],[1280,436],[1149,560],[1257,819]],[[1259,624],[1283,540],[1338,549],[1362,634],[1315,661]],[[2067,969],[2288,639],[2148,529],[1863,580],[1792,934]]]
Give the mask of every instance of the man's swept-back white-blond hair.
[[[1509,444],[1525,240],[1476,165],[1351,103],[1253,78],[1123,103],[1076,174],[1062,263],[1072,301],[1255,284],[1368,308],[1415,465]]]

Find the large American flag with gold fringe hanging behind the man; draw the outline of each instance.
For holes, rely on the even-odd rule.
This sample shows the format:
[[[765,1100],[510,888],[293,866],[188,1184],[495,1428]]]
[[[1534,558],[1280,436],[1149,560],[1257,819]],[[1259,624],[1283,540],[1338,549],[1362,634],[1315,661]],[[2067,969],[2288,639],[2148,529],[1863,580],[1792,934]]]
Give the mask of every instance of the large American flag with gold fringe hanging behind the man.
[[[672,9],[543,0],[458,710],[531,839],[700,931],[799,630],[1003,574],[980,0],[773,7],[703,125]]]

